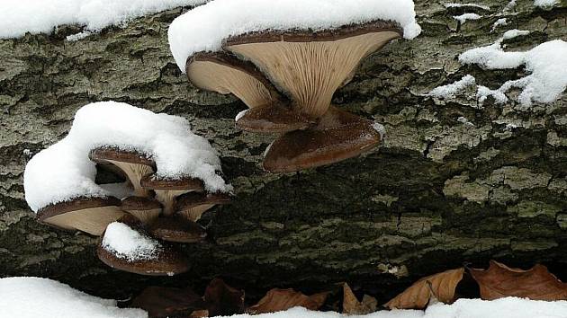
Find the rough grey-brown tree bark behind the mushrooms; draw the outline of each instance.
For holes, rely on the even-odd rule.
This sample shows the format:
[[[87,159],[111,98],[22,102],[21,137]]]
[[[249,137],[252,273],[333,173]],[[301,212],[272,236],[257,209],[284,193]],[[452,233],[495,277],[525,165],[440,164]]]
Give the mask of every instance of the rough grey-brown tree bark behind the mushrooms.
[[[508,13],[507,2],[494,0],[482,1],[490,10],[416,3],[422,35],[367,58],[334,97],[342,109],[382,122],[383,145],[291,174],[261,170],[272,137],[234,128],[243,103],[193,88],[175,66],[166,29],[181,8],[84,40],[66,40],[80,31],[74,26],[0,40],[0,275],[55,278],[114,297],[150,283],[199,286],[218,275],[258,291],[349,281],[382,300],[464,261],[541,261],[567,280],[567,97],[480,108],[473,89],[449,101],[424,95],[467,74],[491,88],[524,75],[461,66],[456,57],[514,28],[531,33],[505,41],[508,49],[565,40],[566,2],[545,11],[519,0]],[[452,18],[465,12],[483,17]],[[502,17],[509,25],[491,32]],[[79,107],[104,100],[184,116],[222,155],[238,199],[205,215],[211,242],[184,246],[189,274],[113,271],[94,256],[96,238],[40,225],[27,208],[26,161],[67,133]]]

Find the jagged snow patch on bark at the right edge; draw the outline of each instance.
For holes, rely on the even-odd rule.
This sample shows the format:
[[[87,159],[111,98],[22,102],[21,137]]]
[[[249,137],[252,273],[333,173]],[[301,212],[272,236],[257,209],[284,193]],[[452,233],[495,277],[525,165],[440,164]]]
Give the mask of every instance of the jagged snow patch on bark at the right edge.
[[[506,93],[512,87],[521,88],[518,102],[523,105],[554,102],[561,96],[567,87],[567,42],[551,40],[525,52],[505,52],[500,43],[501,39],[488,47],[470,49],[459,56],[459,61],[486,69],[526,66],[530,75],[510,80],[497,89],[500,93]],[[482,96],[487,93],[483,91]],[[499,98],[503,100],[502,94],[497,101]]]

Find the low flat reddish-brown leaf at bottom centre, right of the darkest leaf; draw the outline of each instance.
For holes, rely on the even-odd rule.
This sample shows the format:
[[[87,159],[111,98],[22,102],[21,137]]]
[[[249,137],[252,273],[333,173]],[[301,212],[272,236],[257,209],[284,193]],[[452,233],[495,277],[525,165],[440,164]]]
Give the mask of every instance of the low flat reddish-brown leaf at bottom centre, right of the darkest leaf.
[[[274,288],[267,292],[257,305],[248,307],[247,312],[250,314],[274,313],[290,309],[296,306],[302,306],[310,310],[318,310],[320,306],[327,300],[329,293],[319,293],[311,296],[305,296],[301,292],[293,289]]]

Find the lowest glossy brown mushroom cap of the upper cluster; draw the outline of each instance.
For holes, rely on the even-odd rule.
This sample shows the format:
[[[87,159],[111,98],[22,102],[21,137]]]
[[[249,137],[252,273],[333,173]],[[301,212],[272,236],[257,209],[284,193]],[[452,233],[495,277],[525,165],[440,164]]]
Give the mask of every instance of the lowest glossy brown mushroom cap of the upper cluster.
[[[381,140],[373,124],[371,120],[330,108],[318,126],[277,138],[266,151],[264,169],[295,172],[360,155]]]

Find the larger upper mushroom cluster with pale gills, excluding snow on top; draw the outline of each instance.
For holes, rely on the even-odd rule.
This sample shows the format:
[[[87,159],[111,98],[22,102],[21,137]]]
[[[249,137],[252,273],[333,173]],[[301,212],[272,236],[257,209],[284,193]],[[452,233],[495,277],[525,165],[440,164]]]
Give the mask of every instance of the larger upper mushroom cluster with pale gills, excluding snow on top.
[[[381,125],[331,104],[361,60],[403,34],[397,22],[374,21],[326,31],[257,31],[229,37],[219,52],[188,57],[195,86],[233,93],[248,110],[243,130],[280,136],[264,169],[294,172],[360,155],[377,146]]]

